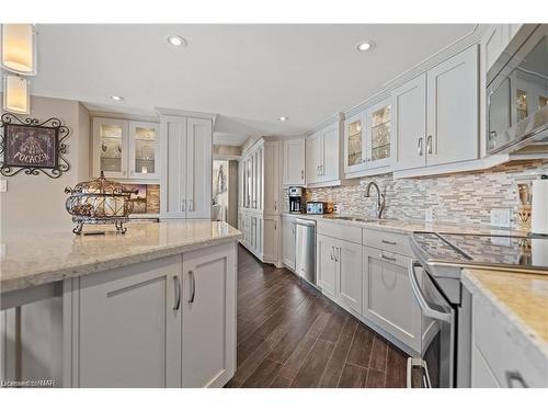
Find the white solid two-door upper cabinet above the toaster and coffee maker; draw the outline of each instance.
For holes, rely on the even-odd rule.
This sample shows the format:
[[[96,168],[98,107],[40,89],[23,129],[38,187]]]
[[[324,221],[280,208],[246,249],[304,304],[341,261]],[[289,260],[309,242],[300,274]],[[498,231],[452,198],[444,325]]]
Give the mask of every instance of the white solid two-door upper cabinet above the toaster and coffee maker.
[[[306,138],[307,186],[330,186],[341,184],[341,134],[343,121],[311,134]]]

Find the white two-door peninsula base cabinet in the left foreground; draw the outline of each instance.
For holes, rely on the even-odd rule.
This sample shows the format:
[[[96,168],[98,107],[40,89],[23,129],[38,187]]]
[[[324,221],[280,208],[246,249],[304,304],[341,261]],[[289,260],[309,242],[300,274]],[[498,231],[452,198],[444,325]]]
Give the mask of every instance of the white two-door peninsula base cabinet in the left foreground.
[[[233,243],[66,284],[65,386],[221,387],[232,377]]]

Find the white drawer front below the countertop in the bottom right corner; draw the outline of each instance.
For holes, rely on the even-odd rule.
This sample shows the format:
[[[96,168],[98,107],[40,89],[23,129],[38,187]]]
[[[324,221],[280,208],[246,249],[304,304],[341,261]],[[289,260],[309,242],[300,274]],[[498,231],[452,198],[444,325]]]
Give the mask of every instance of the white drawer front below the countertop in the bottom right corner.
[[[532,350],[515,324],[482,297],[473,297],[472,312],[473,344],[501,387],[548,386],[546,357]]]

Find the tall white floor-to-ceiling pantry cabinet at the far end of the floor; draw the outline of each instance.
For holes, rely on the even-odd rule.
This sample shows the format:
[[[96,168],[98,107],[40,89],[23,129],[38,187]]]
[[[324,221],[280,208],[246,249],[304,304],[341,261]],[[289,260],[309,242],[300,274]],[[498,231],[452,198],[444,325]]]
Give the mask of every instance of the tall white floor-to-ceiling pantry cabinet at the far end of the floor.
[[[240,159],[238,227],[241,243],[259,260],[278,263],[279,232],[279,141],[261,138]]]

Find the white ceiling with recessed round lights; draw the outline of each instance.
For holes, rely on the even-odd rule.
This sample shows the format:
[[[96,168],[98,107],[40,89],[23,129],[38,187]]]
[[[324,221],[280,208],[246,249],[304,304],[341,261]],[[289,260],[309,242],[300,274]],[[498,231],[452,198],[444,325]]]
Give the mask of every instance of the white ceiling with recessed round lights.
[[[216,140],[295,135],[346,111],[471,24],[38,24],[37,95],[94,110],[218,114]],[[173,47],[170,34],[187,47]],[[354,46],[373,39],[373,52]],[[115,103],[110,95],[122,95]],[[279,122],[279,116],[289,121]],[[233,141],[232,141],[233,140]]]

